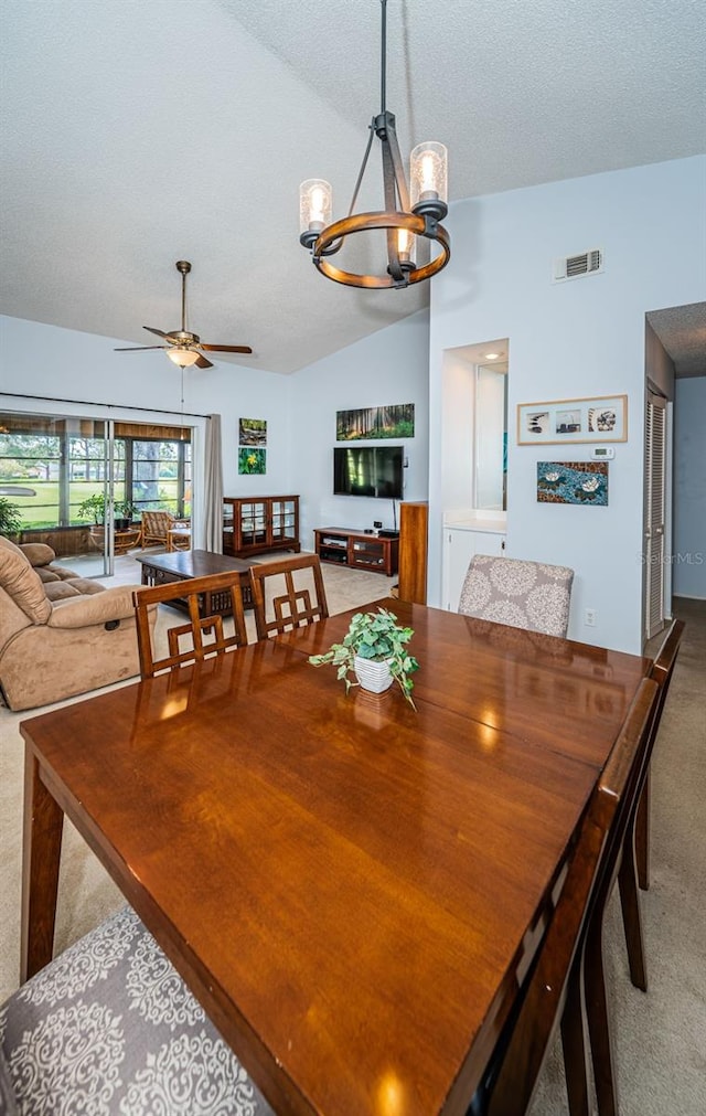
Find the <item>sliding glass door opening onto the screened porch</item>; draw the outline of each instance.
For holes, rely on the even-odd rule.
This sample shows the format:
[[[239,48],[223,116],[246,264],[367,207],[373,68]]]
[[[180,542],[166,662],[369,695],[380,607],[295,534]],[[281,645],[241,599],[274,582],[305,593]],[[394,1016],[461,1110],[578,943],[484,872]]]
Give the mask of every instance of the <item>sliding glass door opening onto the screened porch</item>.
[[[46,542],[83,576],[136,550],[144,510],[191,516],[191,492],[188,427],[0,414],[0,533]]]

